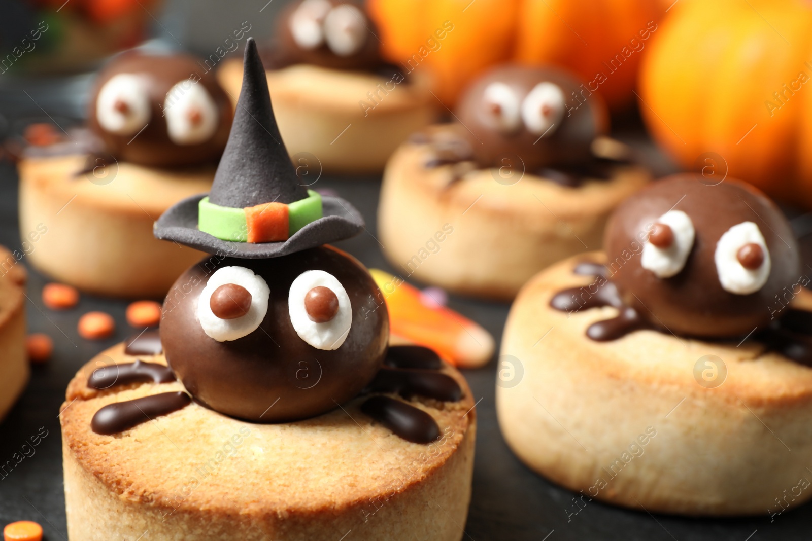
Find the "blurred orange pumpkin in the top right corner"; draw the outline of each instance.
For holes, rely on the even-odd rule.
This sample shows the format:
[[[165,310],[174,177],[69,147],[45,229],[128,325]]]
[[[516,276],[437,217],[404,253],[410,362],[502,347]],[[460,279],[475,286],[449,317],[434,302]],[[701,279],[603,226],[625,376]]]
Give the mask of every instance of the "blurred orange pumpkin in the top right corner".
[[[685,168],[812,208],[812,4],[680,0],[661,27],[641,66],[654,139]]]

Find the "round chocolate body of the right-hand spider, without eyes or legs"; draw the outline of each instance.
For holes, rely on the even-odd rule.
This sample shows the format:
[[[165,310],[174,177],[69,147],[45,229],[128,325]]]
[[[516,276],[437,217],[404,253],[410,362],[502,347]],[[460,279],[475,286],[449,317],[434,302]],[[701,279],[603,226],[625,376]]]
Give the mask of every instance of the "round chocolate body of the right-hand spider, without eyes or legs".
[[[680,273],[657,277],[641,266],[640,234],[669,210],[688,214],[696,238]],[[733,225],[753,221],[767,242],[771,273],[752,294],[732,294],[719,283],[714,253]],[[679,335],[731,337],[771,321],[771,307],[784,286],[801,276],[797,243],[788,221],[765,195],[744,182],[727,179],[709,186],[693,174],[654,182],[632,195],[612,214],[604,238],[609,279],[622,302],[655,327]]]

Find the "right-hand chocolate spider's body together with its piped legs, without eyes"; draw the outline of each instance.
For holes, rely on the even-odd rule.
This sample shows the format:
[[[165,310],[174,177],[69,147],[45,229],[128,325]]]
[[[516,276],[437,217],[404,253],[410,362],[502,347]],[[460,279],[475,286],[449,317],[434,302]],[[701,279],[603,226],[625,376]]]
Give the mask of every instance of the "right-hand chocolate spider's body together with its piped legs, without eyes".
[[[643,243],[659,217],[675,209],[690,218],[695,230],[693,245],[678,273],[659,277],[641,264]],[[723,234],[746,221],[754,222],[763,235],[771,268],[761,288],[734,294],[719,281],[715,251]],[[606,264],[585,262],[573,270],[594,276],[594,282],[560,291],[550,302],[551,307],[568,313],[616,308],[617,316],[587,328],[591,339],[615,340],[642,328],[685,337],[752,336],[790,359],[812,364],[812,312],[784,310],[783,303],[780,309],[774,308],[779,295],[800,281],[797,243],[784,215],[754,187],[733,179],[710,186],[696,174],[665,178],[615,210],[604,247]],[[765,255],[760,255],[762,262]],[[744,266],[746,261],[741,259]]]

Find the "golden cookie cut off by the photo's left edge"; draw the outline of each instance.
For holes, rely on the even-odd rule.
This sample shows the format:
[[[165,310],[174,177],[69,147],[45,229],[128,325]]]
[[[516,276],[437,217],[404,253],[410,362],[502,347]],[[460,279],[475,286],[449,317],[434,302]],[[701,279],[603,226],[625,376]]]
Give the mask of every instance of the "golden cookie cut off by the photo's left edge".
[[[14,255],[0,246],[0,421],[28,382],[25,352],[25,280],[27,273]]]

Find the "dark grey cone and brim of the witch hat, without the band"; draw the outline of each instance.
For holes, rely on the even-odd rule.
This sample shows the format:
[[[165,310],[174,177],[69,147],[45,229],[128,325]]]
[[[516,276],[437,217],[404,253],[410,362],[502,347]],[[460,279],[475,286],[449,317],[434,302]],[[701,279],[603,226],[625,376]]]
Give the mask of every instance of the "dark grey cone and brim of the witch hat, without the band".
[[[222,161],[214,175],[209,202],[239,210],[264,203],[291,204],[308,197],[296,177],[270,105],[265,70],[253,38],[245,44],[243,88]],[[364,229],[364,218],[348,201],[322,195],[322,217],[296,230],[286,241],[247,243],[223,240],[199,227],[199,205],[206,194],[193,195],[166,210],[153,226],[155,238],[246,259],[280,257],[350,238]]]

